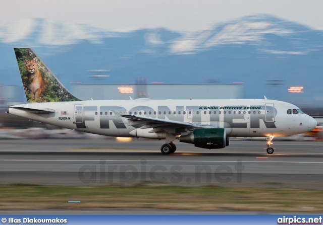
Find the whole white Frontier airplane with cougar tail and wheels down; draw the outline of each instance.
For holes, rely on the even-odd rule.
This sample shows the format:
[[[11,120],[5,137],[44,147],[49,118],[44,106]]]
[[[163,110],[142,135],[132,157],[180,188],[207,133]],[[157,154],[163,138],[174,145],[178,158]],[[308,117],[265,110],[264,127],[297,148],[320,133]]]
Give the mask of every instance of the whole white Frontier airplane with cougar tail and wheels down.
[[[311,131],[315,119],[287,102],[264,99],[80,100],[73,96],[30,48],[14,48],[27,104],[7,113],[88,133],[174,140],[207,149],[224,148],[230,137],[264,137],[266,152],[275,136]]]

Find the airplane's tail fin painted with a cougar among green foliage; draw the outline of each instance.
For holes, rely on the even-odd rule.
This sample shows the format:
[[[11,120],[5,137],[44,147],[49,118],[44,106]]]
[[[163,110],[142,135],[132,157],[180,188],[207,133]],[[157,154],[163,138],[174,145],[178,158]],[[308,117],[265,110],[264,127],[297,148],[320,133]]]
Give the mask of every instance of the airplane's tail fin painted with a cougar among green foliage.
[[[81,101],[74,97],[31,48],[14,48],[27,102]]]

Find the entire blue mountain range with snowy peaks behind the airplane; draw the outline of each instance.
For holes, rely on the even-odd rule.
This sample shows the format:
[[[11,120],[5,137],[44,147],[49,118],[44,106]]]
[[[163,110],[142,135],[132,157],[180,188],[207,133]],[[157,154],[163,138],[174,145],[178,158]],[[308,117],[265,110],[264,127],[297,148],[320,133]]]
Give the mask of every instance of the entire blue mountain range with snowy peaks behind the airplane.
[[[201,84],[244,82],[245,98],[323,105],[323,32],[271,15],[253,15],[182,33],[163,28],[129,32],[32,19],[0,27],[0,83],[21,85],[13,46],[32,47],[69,88],[82,83]],[[94,81],[88,70],[110,70]],[[12,74],[12,76],[7,76]],[[273,85],[271,81],[279,81]],[[304,87],[293,95],[287,89]],[[211,98],[211,97],[208,97]]]

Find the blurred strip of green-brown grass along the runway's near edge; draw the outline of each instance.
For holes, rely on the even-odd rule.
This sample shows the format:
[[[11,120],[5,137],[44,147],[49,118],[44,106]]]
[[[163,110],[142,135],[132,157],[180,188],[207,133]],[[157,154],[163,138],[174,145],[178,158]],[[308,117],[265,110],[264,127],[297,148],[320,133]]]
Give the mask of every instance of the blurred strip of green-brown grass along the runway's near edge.
[[[322,212],[322,202],[321,191],[291,188],[0,186],[1,210],[109,208]]]

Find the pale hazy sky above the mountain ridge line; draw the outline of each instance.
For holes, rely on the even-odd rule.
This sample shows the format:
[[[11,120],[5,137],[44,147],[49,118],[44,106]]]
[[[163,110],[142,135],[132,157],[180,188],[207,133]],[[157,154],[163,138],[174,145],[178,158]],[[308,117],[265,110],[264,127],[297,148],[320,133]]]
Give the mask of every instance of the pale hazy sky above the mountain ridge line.
[[[251,14],[272,14],[323,29],[322,0],[8,0],[0,26],[20,19],[46,18],[109,30],[165,27],[178,31]]]

